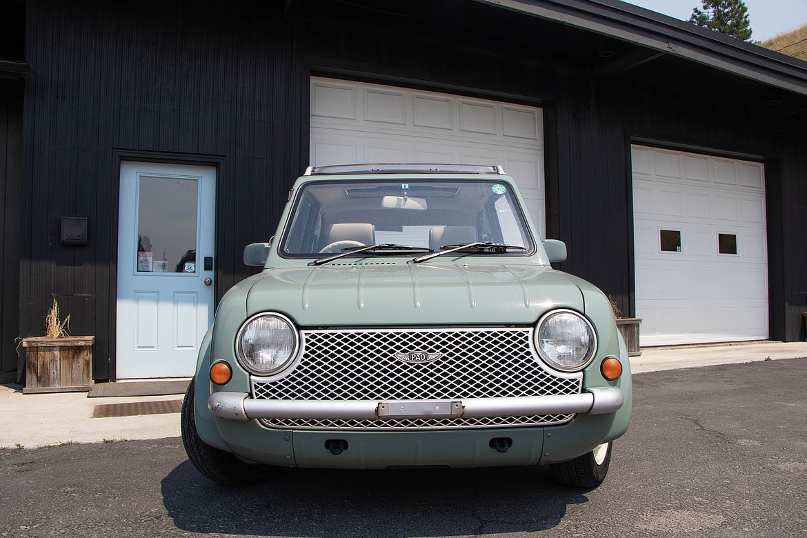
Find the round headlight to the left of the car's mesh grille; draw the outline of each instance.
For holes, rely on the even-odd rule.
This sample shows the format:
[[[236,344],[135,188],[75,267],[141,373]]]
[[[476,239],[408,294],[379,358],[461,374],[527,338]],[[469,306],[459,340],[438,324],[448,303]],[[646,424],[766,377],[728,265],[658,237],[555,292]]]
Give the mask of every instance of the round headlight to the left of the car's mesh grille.
[[[297,331],[289,319],[278,314],[259,314],[238,332],[238,361],[249,372],[270,375],[294,359],[297,343]]]

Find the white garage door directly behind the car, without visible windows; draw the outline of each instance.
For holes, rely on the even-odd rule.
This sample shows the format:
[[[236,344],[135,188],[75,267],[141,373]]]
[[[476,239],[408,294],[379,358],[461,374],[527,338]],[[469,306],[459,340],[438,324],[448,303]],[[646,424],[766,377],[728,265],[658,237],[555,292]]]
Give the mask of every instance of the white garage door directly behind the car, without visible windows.
[[[312,77],[311,164],[353,163],[502,165],[546,229],[540,108]]]

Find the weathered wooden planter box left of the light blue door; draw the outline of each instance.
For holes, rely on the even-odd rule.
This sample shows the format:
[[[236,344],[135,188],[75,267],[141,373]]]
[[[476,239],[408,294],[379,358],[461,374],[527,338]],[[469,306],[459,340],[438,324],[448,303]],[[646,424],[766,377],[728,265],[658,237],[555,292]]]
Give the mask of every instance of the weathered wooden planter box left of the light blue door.
[[[95,336],[23,339],[25,388],[37,392],[89,391]]]

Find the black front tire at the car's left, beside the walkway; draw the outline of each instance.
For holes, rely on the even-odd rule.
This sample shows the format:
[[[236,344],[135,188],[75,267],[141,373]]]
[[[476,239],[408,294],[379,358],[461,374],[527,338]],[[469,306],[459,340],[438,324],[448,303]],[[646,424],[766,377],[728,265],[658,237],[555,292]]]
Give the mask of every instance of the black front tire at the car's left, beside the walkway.
[[[205,443],[196,430],[196,411],[194,410],[194,382],[190,380],[185,399],[182,401],[182,444],[190,463],[207,478],[224,486],[252,486],[265,482],[270,477],[273,467],[270,465],[253,465],[241,461],[233,453],[211,447]]]

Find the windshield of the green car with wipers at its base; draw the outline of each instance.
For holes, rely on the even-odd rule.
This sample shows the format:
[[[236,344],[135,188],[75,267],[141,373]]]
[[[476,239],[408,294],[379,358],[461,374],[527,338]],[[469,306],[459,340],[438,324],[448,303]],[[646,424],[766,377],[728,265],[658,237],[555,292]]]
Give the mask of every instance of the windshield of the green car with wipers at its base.
[[[533,240],[512,188],[504,181],[399,178],[312,181],[295,201],[283,256],[311,257],[370,244],[439,251],[485,242],[524,247]]]

